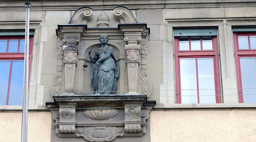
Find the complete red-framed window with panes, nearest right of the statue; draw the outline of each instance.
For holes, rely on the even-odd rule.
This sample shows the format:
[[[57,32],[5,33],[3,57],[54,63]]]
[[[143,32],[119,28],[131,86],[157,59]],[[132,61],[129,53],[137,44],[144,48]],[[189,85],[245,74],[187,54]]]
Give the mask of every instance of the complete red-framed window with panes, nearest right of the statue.
[[[222,103],[217,36],[175,37],[175,74],[176,103]]]

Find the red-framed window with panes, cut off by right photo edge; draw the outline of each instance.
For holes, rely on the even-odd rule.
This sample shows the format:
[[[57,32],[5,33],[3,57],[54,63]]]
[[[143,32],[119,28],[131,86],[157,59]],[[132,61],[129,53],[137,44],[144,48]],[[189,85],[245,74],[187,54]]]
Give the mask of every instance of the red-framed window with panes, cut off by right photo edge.
[[[239,103],[256,103],[256,33],[233,33]]]

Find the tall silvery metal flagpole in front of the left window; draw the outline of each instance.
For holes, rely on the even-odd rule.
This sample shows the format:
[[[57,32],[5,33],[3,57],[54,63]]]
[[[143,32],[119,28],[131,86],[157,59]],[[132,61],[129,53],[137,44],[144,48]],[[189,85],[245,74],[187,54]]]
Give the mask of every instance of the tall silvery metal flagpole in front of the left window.
[[[29,54],[29,8],[30,3],[25,3],[26,8],[26,28],[25,28],[25,57],[24,57],[24,85],[23,85],[23,109],[22,109],[22,128],[21,142],[28,141],[28,54]]]

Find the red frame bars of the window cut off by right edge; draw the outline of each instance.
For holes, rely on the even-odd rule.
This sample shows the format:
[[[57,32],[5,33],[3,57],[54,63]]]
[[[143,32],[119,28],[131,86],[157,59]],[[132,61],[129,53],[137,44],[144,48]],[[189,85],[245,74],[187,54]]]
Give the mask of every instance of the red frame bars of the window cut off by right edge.
[[[249,49],[239,49],[238,36],[248,36]],[[235,62],[237,70],[237,87],[239,103],[243,103],[243,87],[241,78],[240,57],[256,57],[256,49],[251,49],[250,36],[256,36],[255,32],[234,32]]]

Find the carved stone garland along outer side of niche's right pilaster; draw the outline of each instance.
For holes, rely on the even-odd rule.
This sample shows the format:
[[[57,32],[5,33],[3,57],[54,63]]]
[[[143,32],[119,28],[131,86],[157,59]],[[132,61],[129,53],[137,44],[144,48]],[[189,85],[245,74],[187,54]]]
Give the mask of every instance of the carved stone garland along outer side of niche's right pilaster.
[[[147,41],[141,40],[141,90],[143,94],[151,94],[151,86],[146,79],[147,75]]]

